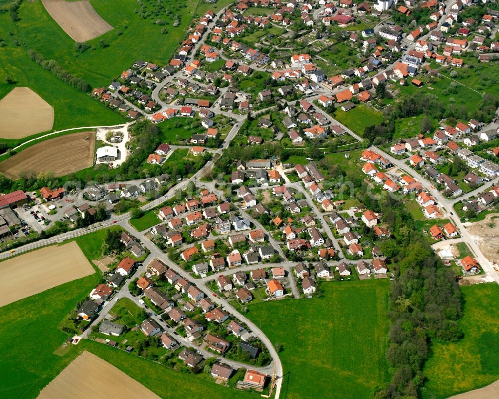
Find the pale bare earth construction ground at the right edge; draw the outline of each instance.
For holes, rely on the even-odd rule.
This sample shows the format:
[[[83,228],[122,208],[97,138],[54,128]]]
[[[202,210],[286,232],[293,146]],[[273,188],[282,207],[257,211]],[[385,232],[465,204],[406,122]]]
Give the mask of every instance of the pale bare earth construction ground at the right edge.
[[[499,258],[499,215],[489,214],[484,220],[466,224],[466,229],[478,243],[484,255],[491,261]]]

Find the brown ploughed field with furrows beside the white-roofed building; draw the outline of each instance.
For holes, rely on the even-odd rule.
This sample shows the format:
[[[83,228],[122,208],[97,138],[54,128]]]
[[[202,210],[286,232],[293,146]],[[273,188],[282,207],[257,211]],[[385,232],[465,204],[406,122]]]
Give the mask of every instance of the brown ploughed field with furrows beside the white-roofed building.
[[[94,132],[67,134],[34,144],[11,156],[0,163],[0,172],[11,179],[18,179],[23,171],[64,176],[92,166],[94,147]]]

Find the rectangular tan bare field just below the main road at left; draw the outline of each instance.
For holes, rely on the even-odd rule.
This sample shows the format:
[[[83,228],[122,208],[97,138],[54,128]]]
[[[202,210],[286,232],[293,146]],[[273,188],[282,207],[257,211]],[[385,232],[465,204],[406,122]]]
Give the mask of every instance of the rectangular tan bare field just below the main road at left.
[[[0,263],[0,306],[94,273],[78,244],[52,245]]]

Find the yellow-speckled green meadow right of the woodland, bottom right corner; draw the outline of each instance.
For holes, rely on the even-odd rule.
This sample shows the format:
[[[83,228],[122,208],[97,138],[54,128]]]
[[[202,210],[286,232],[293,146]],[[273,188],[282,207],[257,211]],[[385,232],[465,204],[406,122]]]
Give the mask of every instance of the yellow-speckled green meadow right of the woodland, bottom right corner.
[[[459,324],[465,336],[456,343],[433,344],[424,370],[425,399],[448,398],[499,379],[499,286],[476,284],[461,291],[465,305]]]

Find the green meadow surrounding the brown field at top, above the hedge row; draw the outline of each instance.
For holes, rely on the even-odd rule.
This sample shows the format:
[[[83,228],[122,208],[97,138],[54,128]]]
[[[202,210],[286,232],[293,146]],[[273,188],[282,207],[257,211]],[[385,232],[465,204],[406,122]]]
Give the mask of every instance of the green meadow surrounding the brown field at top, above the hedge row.
[[[141,6],[129,0],[91,0],[95,12],[113,29],[86,41],[84,51],[75,48],[74,40],[40,1],[23,2],[16,24],[26,48],[57,60],[68,72],[100,87],[107,86],[138,58],[167,64],[200,2],[204,1],[144,0]],[[174,26],[175,21],[178,26]]]

